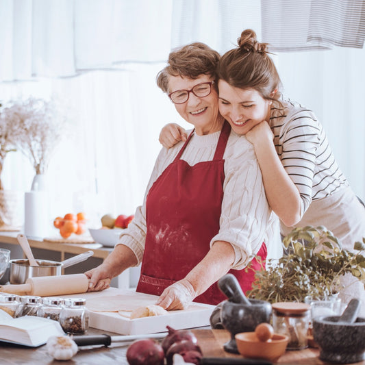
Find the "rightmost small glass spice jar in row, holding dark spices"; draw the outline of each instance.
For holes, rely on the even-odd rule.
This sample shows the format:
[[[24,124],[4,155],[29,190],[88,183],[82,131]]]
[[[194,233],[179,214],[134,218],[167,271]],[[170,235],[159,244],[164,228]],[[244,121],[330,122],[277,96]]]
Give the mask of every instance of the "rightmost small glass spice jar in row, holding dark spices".
[[[69,298],[64,300],[64,307],[60,313],[60,324],[66,333],[85,333],[88,329],[88,311],[86,300]]]

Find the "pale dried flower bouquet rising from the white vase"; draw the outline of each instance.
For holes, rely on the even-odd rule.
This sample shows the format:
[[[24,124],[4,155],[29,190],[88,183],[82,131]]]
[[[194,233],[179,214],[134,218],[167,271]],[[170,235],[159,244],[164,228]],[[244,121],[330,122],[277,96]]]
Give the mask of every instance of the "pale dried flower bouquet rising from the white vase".
[[[5,125],[13,125],[14,143],[29,158],[36,174],[45,173],[51,153],[64,134],[66,114],[60,105],[30,97],[10,102],[0,118]]]

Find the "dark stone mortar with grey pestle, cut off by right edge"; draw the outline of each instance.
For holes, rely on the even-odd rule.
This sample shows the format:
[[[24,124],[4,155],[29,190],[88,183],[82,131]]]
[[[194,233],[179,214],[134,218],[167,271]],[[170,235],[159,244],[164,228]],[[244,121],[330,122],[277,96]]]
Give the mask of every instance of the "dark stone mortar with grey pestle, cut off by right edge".
[[[351,299],[341,316],[313,318],[313,337],[320,360],[350,364],[365,360],[365,318],[357,317],[360,300]]]

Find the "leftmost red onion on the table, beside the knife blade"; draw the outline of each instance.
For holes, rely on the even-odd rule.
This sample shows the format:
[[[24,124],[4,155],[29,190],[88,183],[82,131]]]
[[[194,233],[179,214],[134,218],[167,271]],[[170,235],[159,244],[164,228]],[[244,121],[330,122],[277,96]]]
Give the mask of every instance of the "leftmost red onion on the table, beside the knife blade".
[[[134,341],[127,349],[129,365],[164,365],[164,350],[155,340]]]

